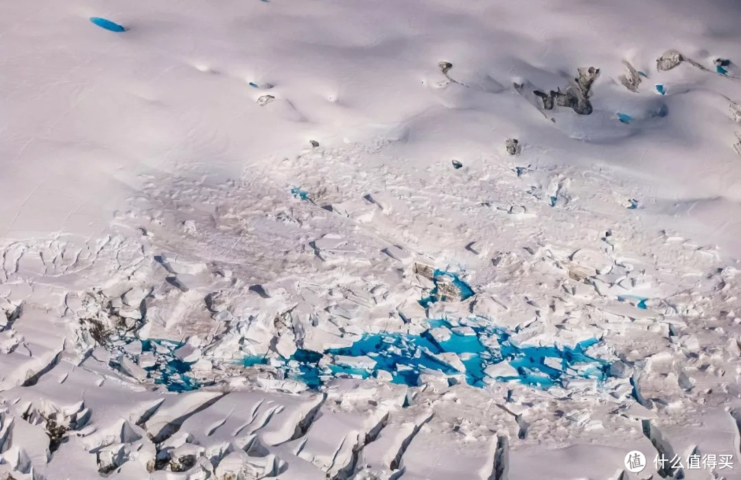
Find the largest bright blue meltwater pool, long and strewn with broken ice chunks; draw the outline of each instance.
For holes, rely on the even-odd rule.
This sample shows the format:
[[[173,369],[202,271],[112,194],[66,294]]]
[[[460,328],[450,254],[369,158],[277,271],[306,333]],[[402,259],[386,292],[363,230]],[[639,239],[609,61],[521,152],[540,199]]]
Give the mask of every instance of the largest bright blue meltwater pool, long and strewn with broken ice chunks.
[[[452,325],[445,320],[429,320],[431,328]],[[376,364],[372,368],[349,367],[342,364],[320,366],[322,354],[310,350],[298,350],[288,361],[283,362],[287,376],[303,381],[308,387],[319,388],[326,379],[339,376],[368,378],[373,373],[391,373],[391,381],[397,384],[416,385],[419,375],[433,370],[451,376],[463,374],[465,381],[474,387],[485,386],[485,369],[489,365],[508,363],[514,370],[508,376],[496,376],[492,381],[519,381],[538,387],[562,384],[566,379],[607,378],[608,362],[588,356],[585,350],[597,343],[597,339],[582,341],[571,347],[521,347],[510,339],[510,334],[501,328],[471,325],[473,335],[452,332],[449,339],[436,340],[427,330],[420,335],[404,333],[373,333],[362,336],[350,347],[325,350],[328,356],[367,356]],[[439,336],[437,338],[440,338]],[[442,358],[441,353],[455,353],[464,371],[459,371]],[[256,364],[254,357],[245,364]],[[265,359],[257,363],[267,363]],[[291,364],[291,366],[289,366]]]

